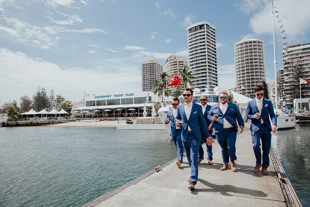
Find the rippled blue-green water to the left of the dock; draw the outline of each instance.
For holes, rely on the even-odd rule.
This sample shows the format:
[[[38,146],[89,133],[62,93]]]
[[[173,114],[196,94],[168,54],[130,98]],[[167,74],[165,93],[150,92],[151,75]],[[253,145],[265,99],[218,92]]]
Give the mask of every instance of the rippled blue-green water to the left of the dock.
[[[81,206],[175,157],[166,130],[0,128],[0,206]]]

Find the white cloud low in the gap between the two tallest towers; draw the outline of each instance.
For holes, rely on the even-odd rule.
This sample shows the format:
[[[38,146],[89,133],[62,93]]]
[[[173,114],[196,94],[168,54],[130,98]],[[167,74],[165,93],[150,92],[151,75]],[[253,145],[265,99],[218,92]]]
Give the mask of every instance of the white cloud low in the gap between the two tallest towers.
[[[228,90],[236,87],[236,70],[235,65],[218,66],[218,83],[221,90]]]

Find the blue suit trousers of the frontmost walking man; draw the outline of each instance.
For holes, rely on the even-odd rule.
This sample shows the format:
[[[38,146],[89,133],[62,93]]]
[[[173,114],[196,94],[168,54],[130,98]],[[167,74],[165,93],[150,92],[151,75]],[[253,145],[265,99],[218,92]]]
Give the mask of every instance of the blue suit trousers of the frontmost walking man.
[[[191,179],[189,182],[194,182],[194,185],[196,185],[198,179],[198,149],[200,143],[201,141],[193,133],[188,134],[187,140],[183,142],[188,164],[191,166]]]

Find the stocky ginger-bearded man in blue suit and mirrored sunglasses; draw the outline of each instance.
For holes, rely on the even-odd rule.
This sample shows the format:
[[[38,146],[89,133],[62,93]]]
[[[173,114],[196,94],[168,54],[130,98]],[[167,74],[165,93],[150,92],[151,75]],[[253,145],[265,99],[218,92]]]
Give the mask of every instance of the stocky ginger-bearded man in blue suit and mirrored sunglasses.
[[[221,170],[228,169],[228,161],[230,158],[230,166],[233,172],[237,172],[235,160],[236,156],[236,139],[238,132],[238,124],[243,132],[244,122],[240,111],[236,104],[228,102],[228,94],[221,92],[219,96],[219,104],[211,107],[208,119],[213,122],[215,136],[222,148],[223,165]]]

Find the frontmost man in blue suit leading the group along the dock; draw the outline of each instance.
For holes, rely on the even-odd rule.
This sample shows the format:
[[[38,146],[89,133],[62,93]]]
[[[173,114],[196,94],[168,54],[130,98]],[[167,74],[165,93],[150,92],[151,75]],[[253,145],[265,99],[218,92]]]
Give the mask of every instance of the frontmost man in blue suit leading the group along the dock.
[[[207,137],[208,145],[212,145],[212,137],[207,130],[207,123],[202,114],[202,107],[193,103],[193,90],[185,88],[183,91],[184,104],[177,108],[175,124],[182,128],[181,139],[186,152],[188,164],[191,166],[191,177],[188,189],[194,190],[198,179],[198,149],[202,137]],[[201,128],[200,128],[201,126]]]

